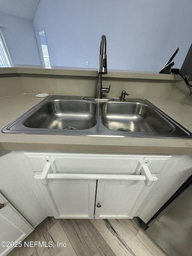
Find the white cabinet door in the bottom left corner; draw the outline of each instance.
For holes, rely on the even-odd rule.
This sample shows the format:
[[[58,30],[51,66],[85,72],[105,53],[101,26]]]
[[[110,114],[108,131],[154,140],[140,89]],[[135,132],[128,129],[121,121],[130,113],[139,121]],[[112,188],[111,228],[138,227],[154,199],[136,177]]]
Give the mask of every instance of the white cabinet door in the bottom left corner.
[[[3,256],[14,248],[13,244],[18,246],[17,242],[25,239],[34,228],[1,194],[0,204],[0,242],[6,242],[5,247],[0,246],[0,255]]]

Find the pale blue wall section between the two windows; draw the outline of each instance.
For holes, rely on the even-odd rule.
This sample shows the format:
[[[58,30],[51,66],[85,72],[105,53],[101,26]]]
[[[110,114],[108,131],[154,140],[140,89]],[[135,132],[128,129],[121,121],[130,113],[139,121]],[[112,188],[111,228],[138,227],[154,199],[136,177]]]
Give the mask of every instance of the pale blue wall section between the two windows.
[[[41,65],[33,22],[0,13],[0,23],[13,64]]]

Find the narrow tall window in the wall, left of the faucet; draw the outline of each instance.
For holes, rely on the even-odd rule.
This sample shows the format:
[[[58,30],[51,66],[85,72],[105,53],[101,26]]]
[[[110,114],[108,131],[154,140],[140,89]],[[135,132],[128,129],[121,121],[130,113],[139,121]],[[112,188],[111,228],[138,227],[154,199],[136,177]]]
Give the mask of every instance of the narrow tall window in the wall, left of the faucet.
[[[50,59],[49,59],[49,51],[47,47],[47,41],[46,41],[46,35],[45,35],[45,29],[40,29],[35,32],[40,58],[41,58],[41,64],[45,66],[50,66]]]

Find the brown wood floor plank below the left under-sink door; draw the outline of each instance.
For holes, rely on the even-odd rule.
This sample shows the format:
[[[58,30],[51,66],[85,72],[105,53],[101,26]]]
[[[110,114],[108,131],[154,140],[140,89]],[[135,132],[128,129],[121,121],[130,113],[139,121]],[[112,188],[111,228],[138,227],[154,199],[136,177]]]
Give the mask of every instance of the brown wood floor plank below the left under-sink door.
[[[78,256],[116,256],[89,219],[59,219]]]

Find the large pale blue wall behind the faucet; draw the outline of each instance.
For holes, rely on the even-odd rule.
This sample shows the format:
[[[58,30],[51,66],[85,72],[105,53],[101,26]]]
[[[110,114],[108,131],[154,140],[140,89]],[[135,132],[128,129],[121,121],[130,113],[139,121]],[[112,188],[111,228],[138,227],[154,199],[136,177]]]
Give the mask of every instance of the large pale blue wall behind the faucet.
[[[191,0],[41,0],[35,31],[45,28],[52,65],[98,68],[101,35],[110,69],[158,72],[179,47],[181,68],[192,43]]]

